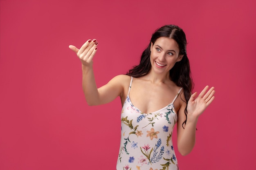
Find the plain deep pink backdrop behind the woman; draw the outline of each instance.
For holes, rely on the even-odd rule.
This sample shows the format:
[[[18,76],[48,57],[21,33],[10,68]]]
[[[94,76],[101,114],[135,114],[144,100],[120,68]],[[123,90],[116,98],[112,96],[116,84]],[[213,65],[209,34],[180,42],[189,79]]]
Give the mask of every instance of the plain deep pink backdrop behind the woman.
[[[97,38],[101,86],[138,64],[164,24],[186,33],[194,91],[216,87],[194,150],[182,157],[175,147],[180,170],[255,168],[255,6],[254,0],[0,0],[0,170],[115,170],[120,100],[85,103],[81,63],[68,46]]]

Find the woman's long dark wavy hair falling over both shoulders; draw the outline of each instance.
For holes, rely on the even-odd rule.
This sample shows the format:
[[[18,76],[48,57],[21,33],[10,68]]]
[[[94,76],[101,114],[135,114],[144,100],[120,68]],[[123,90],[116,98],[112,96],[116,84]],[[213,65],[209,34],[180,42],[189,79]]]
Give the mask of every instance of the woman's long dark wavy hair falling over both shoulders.
[[[193,80],[191,78],[189,59],[186,54],[186,45],[187,45],[186,35],[179,26],[165,25],[157,29],[155,33],[153,33],[147,48],[143,51],[139,65],[134,66],[132,69],[130,69],[128,73],[126,73],[126,75],[130,75],[132,77],[137,78],[137,77],[142,77],[144,75],[147,75],[149,73],[151,68],[151,63],[150,63],[151,42],[155,44],[155,41],[160,37],[167,37],[175,40],[180,49],[179,55],[183,55],[182,60],[180,62],[176,62],[173,68],[171,68],[170,79],[177,86],[180,86],[183,88],[183,93],[185,97],[184,102],[186,102],[186,109],[184,113],[187,117],[187,113],[188,113],[187,104],[191,96],[191,91],[193,89]],[[183,128],[184,128],[183,125],[186,124],[186,120],[182,124]]]

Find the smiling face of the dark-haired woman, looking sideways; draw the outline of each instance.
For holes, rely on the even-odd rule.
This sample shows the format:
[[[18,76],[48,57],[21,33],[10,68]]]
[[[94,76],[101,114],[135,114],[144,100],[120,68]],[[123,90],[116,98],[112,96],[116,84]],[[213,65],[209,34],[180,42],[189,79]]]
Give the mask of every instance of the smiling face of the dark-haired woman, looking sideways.
[[[176,62],[179,62],[183,55],[179,55],[179,47],[175,40],[167,37],[160,37],[151,42],[150,46],[151,71],[157,74],[169,74]]]

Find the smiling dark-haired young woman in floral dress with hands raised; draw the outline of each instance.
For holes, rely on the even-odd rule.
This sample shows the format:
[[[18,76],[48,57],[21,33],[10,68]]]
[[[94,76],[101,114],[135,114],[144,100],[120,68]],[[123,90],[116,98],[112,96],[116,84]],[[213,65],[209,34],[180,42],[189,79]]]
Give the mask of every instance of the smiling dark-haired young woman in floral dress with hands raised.
[[[92,59],[97,40],[77,49],[82,62],[83,92],[89,105],[111,102],[120,97],[121,143],[117,170],[178,170],[172,132],[177,123],[177,148],[187,155],[195,145],[198,117],[214,99],[214,88],[206,86],[191,95],[186,35],[175,25],[162,26],[153,33],[138,66],[97,88]],[[208,91],[207,91],[208,90]]]

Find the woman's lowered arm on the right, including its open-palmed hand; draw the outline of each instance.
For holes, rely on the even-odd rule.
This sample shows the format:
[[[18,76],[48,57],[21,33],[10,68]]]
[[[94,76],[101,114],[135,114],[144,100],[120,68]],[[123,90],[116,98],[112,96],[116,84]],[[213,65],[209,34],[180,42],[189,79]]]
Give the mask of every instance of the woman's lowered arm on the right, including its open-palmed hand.
[[[214,87],[207,89],[206,86],[202,92],[197,96],[197,92],[193,93],[189,99],[187,110],[187,118],[184,114],[186,103],[183,102],[178,111],[177,121],[177,147],[181,155],[187,155],[191,152],[195,145],[195,130],[198,122],[198,117],[204,112],[204,110],[211,104],[214,99]],[[182,93],[183,95],[183,93]],[[182,96],[184,98],[184,95]],[[186,125],[182,127],[183,122],[186,120]]]

